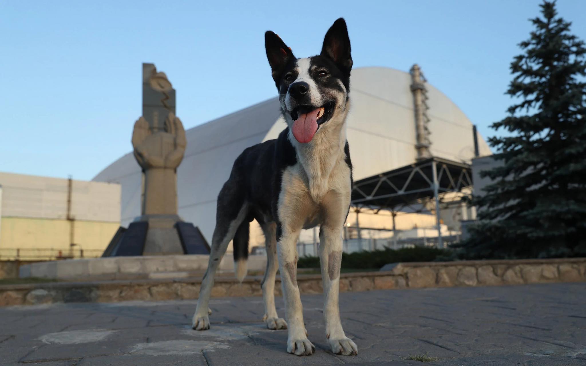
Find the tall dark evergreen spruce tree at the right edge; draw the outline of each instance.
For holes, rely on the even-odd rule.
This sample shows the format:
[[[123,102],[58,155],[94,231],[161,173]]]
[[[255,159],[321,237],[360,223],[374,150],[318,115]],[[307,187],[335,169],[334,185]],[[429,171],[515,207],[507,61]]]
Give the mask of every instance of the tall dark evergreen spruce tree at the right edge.
[[[502,166],[481,173],[492,183],[472,199],[466,258],[586,254],[586,49],[555,1],[540,6],[510,66],[517,104],[491,126],[508,132],[489,139]]]

